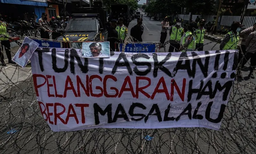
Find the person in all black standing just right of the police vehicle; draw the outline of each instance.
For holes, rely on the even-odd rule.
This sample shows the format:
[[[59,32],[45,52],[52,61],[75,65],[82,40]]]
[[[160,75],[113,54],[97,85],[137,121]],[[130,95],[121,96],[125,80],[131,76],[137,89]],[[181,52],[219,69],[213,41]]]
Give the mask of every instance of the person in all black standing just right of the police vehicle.
[[[108,30],[108,39],[109,41],[109,46],[110,46],[110,51],[115,51],[117,49],[117,46],[115,42],[118,41],[118,32],[116,31],[116,26],[117,26],[117,20],[111,20],[109,27],[107,27]]]

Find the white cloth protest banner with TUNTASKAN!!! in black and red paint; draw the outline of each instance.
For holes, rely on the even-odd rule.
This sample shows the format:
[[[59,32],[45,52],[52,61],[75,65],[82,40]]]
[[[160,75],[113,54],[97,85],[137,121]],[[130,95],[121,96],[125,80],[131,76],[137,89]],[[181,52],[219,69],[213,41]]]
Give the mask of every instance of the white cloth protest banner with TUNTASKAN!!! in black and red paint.
[[[237,51],[110,53],[38,48],[31,58],[41,114],[52,131],[204,127],[218,130]]]

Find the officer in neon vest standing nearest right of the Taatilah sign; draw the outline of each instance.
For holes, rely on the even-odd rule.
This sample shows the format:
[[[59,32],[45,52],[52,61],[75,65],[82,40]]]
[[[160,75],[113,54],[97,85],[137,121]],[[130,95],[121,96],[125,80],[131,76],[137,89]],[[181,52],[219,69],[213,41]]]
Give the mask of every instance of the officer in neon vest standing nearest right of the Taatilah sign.
[[[169,52],[173,52],[175,49],[175,52],[179,52],[180,48],[180,40],[182,35],[184,34],[184,28],[181,27],[181,18],[177,20],[177,23],[175,25],[172,25],[169,31],[170,35],[170,47]]]

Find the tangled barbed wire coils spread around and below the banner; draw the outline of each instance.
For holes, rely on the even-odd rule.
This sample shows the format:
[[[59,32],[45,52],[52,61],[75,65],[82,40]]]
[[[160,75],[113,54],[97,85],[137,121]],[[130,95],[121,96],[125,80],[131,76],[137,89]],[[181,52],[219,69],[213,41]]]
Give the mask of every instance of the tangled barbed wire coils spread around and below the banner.
[[[98,38],[100,41],[106,39]],[[123,41],[124,46],[134,40],[138,41],[128,36]],[[204,46],[211,43],[217,45],[211,41]],[[170,40],[164,43],[164,52],[167,44]],[[247,64],[252,67],[249,61]],[[238,70],[242,69],[241,65],[238,67]],[[18,79],[13,81],[14,74],[19,71],[23,70],[18,65],[11,75],[5,67],[0,69],[0,75],[5,76],[0,79],[0,153],[253,154],[256,151],[256,81],[250,78],[242,80],[236,76],[219,131],[206,128],[98,128],[53,132],[41,115],[31,69],[28,69],[25,80],[20,81],[18,74]],[[147,135],[154,139],[145,140]]]

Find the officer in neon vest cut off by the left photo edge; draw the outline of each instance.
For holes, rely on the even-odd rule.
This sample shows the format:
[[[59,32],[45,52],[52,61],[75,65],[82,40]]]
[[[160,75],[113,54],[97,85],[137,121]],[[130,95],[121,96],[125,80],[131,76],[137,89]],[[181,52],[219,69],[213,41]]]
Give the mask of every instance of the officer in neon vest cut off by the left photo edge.
[[[1,20],[2,20],[2,16],[0,14],[0,36],[4,35],[4,36],[0,37],[0,41],[1,41],[0,59],[1,59],[2,66],[6,66],[6,64],[4,63],[4,49],[5,49],[7,58],[8,58],[8,63],[16,64],[14,61],[12,61],[11,44],[8,39],[9,35],[7,33],[7,24]]]

